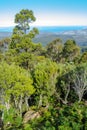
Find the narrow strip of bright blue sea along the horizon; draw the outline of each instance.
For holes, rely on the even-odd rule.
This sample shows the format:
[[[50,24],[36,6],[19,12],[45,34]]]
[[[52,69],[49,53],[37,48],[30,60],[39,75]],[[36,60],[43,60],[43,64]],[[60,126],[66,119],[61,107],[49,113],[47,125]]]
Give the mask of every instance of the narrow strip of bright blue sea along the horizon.
[[[87,26],[31,26],[30,29],[36,27],[40,33],[61,33],[66,31],[78,31],[87,29]],[[12,33],[14,26],[0,27],[0,32]]]

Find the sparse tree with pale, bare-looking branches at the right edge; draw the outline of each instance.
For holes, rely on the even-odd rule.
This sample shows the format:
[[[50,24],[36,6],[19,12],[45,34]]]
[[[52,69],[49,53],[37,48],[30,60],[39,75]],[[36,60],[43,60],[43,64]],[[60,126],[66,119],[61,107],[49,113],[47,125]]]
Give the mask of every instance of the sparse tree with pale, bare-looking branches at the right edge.
[[[87,93],[87,63],[82,63],[73,70],[73,89],[81,102],[84,94]]]

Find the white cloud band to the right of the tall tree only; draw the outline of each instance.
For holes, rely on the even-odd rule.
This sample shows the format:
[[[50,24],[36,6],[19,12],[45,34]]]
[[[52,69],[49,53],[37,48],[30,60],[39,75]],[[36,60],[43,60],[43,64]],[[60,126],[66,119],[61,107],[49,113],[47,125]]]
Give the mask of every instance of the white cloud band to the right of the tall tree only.
[[[81,15],[50,14],[37,16],[34,25],[87,25],[87,17]]]

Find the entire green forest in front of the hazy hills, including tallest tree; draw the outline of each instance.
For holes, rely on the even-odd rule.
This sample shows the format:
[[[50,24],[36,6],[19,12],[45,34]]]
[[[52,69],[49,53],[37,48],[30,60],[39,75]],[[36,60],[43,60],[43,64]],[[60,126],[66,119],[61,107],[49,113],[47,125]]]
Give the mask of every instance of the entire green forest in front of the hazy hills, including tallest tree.
[[[32,10],[0,41],[1,130],[87,130],[87,50],[74,40],[34,43]]]

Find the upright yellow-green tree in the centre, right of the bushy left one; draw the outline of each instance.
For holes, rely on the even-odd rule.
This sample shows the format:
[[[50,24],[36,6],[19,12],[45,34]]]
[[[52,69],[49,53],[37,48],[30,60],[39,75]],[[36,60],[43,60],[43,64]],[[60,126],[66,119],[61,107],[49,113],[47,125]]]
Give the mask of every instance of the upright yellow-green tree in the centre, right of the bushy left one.
[[[50,60],[37,64],[34,71],[34,85],[39,97],[39,106],[47,105],[55,93],[57,64]]]

